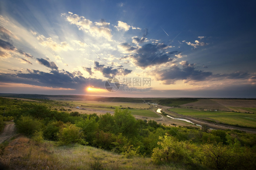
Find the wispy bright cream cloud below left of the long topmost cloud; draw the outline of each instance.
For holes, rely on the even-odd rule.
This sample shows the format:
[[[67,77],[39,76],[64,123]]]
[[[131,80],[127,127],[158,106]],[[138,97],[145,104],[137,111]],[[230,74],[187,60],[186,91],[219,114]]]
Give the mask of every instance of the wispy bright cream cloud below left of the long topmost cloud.
[[[43,45],[44,47],[49,47],[53,51],[74,50],[67,42],[60,42],[60,44],[58,44],[57,42],[53,41],[51,37],[46,38],[43,35],[39,35],[36,38],[38,39],[41,45]]]

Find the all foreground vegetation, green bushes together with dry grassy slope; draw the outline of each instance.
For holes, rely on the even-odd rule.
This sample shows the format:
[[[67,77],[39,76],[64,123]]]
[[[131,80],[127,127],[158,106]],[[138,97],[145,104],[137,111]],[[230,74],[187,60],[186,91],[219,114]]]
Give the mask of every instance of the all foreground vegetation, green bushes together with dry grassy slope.
[[[65,103],[48,100],[0,103],[1,115],[12,116],[17,131],[31,138],[1,144],[2,169],[256,168],[255,134],[163,126],[136,120],[128,109],[98,116],[58,111]]]

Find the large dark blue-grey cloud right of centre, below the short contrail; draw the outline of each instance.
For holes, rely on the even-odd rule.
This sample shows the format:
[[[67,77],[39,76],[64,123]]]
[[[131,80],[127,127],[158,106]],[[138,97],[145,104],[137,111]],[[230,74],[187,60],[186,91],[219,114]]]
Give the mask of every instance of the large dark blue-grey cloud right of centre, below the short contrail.
[[[178,51],[164,53],[164,48],[167,47],[163,44],[145,44],[139,48],[135,54],[131,54],[130,57],[134,60],[135,65],[146,68],[150,65],[156,65],[172,61],[174,54],[178,54]],[[173,57],[173,58],[171,58]]]

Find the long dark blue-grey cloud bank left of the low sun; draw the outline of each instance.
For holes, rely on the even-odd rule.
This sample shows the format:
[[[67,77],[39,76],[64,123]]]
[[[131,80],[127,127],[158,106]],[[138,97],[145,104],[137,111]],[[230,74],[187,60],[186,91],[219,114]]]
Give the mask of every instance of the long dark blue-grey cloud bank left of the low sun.
[[[51,70],[50,73],[30,69],[27,69],[27,71],[28,73],[18,74],[0,73],[0,80],[6,83],[24,83],[42,87],[71,88],[77,90],[84,90],[86,85],[104,88],[103,80],[85,78],[77,75],[77,73],[59,72],[58,70]]]

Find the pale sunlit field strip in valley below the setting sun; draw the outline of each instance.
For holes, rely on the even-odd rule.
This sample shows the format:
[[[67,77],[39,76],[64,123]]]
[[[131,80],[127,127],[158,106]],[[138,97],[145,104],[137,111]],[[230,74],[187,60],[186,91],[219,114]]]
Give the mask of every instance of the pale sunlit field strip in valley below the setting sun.
[[[148,109],[150,105],[145,103],[125,103],[125,102],[100,102],[100,101],[90,101],[90,100],[56,100],[60,102],[66,102],[68,104],[74,104],[76,106],[91,106],[91,107],[113,107],[113,108],[122,108],[122,107],[130,107],[134,109]]]

